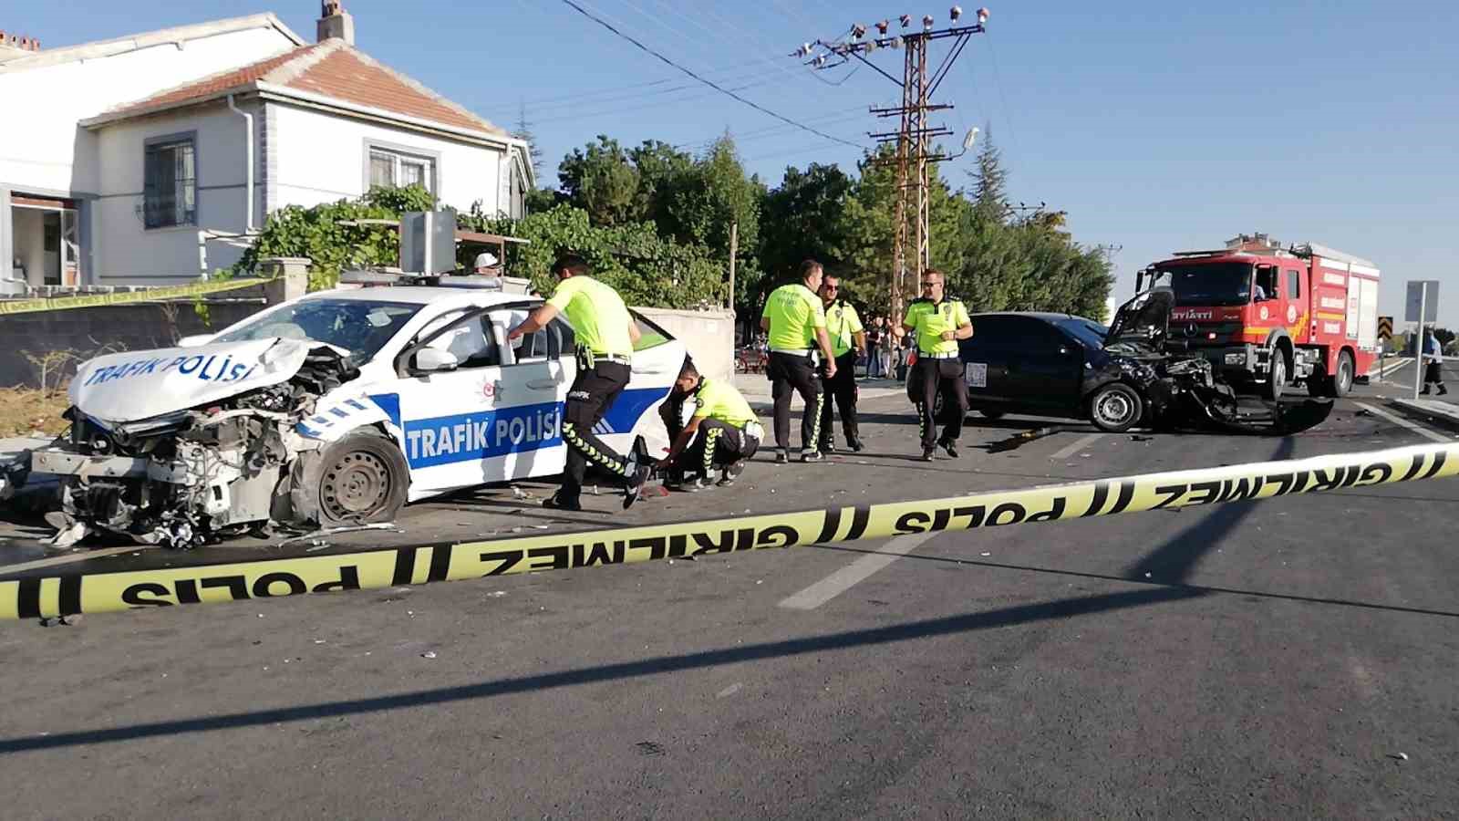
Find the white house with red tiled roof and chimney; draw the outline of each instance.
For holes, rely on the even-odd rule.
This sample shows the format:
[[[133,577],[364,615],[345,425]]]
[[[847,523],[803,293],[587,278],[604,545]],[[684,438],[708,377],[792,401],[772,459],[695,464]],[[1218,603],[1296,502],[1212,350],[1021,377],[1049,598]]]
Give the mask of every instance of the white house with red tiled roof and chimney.
[[[522,216],[528,146],[353,39],[337,0],[315,42],[274,15],[55,50],[0,35],[0,286],[196,279],[270,212],[371,186]]]

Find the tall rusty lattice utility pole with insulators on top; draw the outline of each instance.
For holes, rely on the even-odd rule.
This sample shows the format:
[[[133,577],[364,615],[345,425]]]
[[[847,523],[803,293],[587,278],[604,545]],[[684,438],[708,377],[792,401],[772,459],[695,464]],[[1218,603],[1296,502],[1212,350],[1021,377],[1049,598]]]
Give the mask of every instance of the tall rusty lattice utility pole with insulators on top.
[[[932,155],[929,153],[929,143],[932,137],[941,137],[951,134],[953,131],[937,126],[928,124],[928,114],[932,111],[943,111],[953,108],[953,105],[934,105],[929,102],[932,93],[943,83],[947,76],[948,69],[963,53],[967,41],[972,39],[975,34],[983,34],[985,25],[988,22],[988,9],[978,9],[978,23],[959,26],[956,25],[959,18],[961,18],[963,10],[959,6],[953,6],[950,10],[953,23],[948,28],[934,29],[934,19],[931,15],[922,18],[922,31],[903,32],[903,34],[889,34],[891,26],[890,20],[881,20],[875,23],[877,37],[865,38],[867,26],[856,23],[851,28],[849,38],[836,42],[824,42],[817,39],[816,44],[804,44],[795,54],[800,57],[810,57],[807,60],[808,66],[816,69],[830,69],[849,63],[851,60],[861,60],[878,75],[887,77],[902,89],[902,104],[893,108],[871,108],[871,114],[877,117],[897,117],[900,120],[900,127],[896,131],[887,133],[871,133],[870,137],[875,139],[878,143],[896,142],[897,150],[891,158],[881,158],[874,161],[877,165],[896,165],[897,169],[897,205],[894,216],[894,235],[891,247],[891,313],[900,317],[905,307],[905,295],[907,294],[907,272],[912,270],[912,276],[921,276],[922,270],[931,267],[931,235],[929,235],[929,210],[928,210],[928,164],[940,162],[945,159],[956,159],[967,149],[972,148],[973,139],[978,133],[976,129],[967,133],[963,140],[963,150],[956,155]],[[899,18],[902,28],[906,29],[912,25],[910,15],[902,15]],[[938,67],[928,73],[928,44],[934,39],[951,38],[953,44]],[[823,53],[816,54],[816,48],[824,48]],[[867,57],[880,48],[900,48],[905,51],[902,79],[884,72],[880,66],[868,60]],[[915,288],[912,289],[916,291]]]

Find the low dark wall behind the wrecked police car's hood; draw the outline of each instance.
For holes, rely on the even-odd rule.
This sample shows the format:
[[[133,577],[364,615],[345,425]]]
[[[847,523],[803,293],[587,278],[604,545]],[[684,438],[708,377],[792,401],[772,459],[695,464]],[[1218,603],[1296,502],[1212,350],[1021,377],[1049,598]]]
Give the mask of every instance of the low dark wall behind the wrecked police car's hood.
[[[112,346],[112,351],[171,348],[182,336],[213,333],[258,313],[264,308],[264,292],[261,286],[242,288],[209,299],[209,324],[193,310],[191,299],[171,302],[169,307],[175,311],[158,304],[134,304],[0,317],[0,351],[6,351],[0,356],[0,387],[39,387],[28,354],[41,356],[51,351],[73,351],[89,359],[108,352],[105,346]],[[66,373],[74,374],[76,362]]]

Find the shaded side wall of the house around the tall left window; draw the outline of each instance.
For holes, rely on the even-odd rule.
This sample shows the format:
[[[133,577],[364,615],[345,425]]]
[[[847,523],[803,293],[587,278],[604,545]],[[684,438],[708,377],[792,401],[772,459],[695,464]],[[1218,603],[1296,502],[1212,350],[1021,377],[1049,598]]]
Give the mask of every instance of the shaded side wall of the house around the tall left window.
[[[252,111],[254,142],[263,118]],[[143,226],[137,212],[143,202],[144,150],[152,137],[196,131],[197,225],[178,228]],[[99,199],[93,203],[92,251],[99,285],[158,285],[177,279],[196,279],[198,267],[198,229],[242,232],[245,210],[245,124],[226,104],[212,104],[142,120],[107,126],[98,136]],[[255,148],[254,162],[258,164]],[[261,180],[254,177],[255,218],[261,215]],[[228,267],[242,254],[225,243],[209,243],[207,267]]]

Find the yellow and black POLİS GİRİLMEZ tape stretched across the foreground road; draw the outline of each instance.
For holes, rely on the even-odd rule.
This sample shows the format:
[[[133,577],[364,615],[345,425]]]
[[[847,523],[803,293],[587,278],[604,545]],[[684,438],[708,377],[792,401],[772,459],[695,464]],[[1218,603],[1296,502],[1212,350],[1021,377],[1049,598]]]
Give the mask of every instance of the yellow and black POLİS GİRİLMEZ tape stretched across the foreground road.
[[[0,618],[236,602],[686,555],[883,539],[926,530],[1002,527],[1441,479],[1456,473],[1459,473],[1459,443],[1430,444],[1174,470],[1023,491],[711,522],[643,524],[524,539],[411,545],[166,570],[58,574],[0,581]]]

